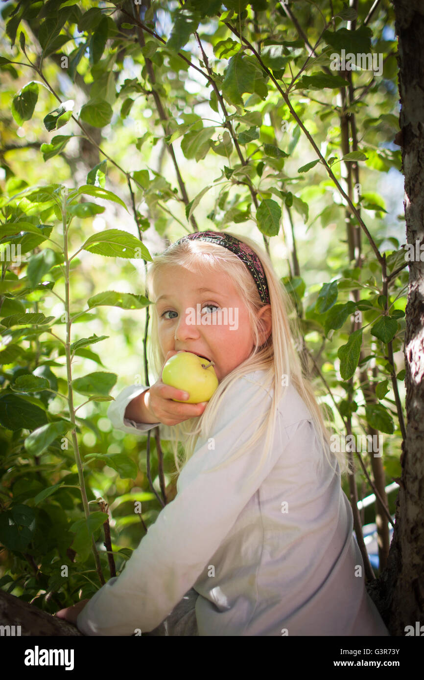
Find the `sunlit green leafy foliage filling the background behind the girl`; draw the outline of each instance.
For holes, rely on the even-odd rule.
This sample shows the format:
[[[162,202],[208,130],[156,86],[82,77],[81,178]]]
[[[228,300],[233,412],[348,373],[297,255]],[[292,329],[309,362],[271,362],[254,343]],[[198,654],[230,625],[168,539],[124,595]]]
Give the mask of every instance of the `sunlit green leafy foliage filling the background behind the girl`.
[[[0,585],[46,611],[101,585],[108,514],[99,496],[113,511],[120,571],[173,470],[165,441],[161,470],[153,438],[152,489],[147,436],[112,433],[105,419],[118,381],[141,383],[140,313],[151,303],[140,265],[152,260],[150,231],[173,241],[182,230],[236,225],[271,254],[278,245],[282,285],[331,391],[322,390],[328,424],[342,431],[349,418],[356,430],[390,435],[387,482],[399,474],[396,355],[408,274],[377,186],[380,173],[400,170],[393,10],[379,7],[365,26],[361,3],[359,16],[341,0],[319,10],[297,3],[309,54],[280,3],[187,0],[170,10],[159,1],[140,18],[113,4],[1,10],[10,115],[0,122],[9,149],[0,195]],[[381,54],[382,74],[333,71],[341,50]],[[78,111],[76,101],[84,101]],[[353,119],[346,151],[343,124]],[[346,229],[357,239],[353,254]],[[321,390],[312,363],[310,371]],[[358,485],[363,479],[357,473]]]

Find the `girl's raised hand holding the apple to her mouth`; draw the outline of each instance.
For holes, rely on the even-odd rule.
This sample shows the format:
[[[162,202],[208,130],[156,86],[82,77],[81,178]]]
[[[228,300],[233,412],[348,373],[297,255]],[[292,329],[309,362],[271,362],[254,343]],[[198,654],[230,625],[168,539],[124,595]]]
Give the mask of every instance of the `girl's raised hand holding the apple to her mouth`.
[[[178,354],[174,350],[168,352],[165,357],[165,366],[167,360]],[[163,370],[163,367],[162,367]],[[188,392],[185,392],[188,395]],[[156,419],[156,422],[161,422],[164,425],[177,425],[183,420],[189,418],[197,418],[201,415],[208,405],[207,401],[202,401],[199,404],[181,404],[173,399],[184,399],[184,390],[178,390],[176,387],[165,385],[162,382],[162,376],[152,385],[146,394],[146,401],[144,402],[149,413]]]

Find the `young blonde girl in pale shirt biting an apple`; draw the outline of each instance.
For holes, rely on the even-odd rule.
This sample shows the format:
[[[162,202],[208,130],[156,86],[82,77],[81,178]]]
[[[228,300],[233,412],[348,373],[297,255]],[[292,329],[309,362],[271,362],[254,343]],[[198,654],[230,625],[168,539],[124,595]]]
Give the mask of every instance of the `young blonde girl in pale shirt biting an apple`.
[[[65,617],[86,635],[388,635],[340,486],[346,460],[329,450],[270,258],[245,237],[197,232],[154,258],[147,287],[159,377],[125,388],[108,415],[125,432],[160,426],[177,495],[123,573]],[[208,403],[174,401],[184,392],[161,381],[177,352],[214,362]]]

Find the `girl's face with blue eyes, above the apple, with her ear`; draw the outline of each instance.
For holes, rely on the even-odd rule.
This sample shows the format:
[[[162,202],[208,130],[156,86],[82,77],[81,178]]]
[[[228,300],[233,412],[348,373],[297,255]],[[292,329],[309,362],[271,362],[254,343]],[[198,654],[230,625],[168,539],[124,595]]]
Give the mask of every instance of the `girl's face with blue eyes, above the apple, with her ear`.
[[[204,356],[214,361],[221,382],[252,353],[248,310],[227,274],[203,270],[200,275],[169,265],[157,276],[154,292],[163,356],[179,350]],[[266,305],[258,312],[269,331],[270,310]]]

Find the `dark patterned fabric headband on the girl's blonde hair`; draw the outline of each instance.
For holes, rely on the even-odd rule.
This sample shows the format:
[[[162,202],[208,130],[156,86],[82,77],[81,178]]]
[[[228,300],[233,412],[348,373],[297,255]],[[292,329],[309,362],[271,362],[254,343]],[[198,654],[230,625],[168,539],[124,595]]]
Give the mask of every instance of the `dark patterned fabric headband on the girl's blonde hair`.
[[[263,304],[270,304],[270,291],[268,289],[267,277],[265,276],[265,271],[263,271],[261,260],[259,260],[257,254],[253,252],[246,243],[243,243],[230,234],[219,231],[195,231],[193,234],[183,236],[176,241],[176,243],[181,243],[181,241],[185,241],[186,239],[190,239],[191,241],[194,241],[195,239],[198,241],[209,241],[216,245],[222,245],[223,248],[227,248],[227,250],[231,250],[231,252],[238,256],[239,260],[244,262],[253,279],[255,279],[255,284]]]

